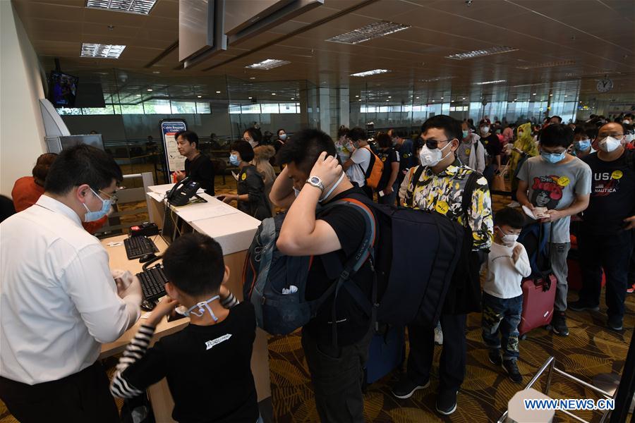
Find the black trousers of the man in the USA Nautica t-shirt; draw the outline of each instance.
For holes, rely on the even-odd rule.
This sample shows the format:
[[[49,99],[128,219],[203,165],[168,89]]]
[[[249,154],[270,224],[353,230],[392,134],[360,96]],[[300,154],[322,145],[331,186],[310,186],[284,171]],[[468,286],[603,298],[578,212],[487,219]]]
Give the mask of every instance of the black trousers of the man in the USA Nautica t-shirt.
[[[629,288],[629,266],[633,231],[616,235],[596,235],[583,229],[578,234],[582,289],[580,299],[600,304],[602,268],[606,272],[606,305],[609,316],[624,316],[624,300]]]

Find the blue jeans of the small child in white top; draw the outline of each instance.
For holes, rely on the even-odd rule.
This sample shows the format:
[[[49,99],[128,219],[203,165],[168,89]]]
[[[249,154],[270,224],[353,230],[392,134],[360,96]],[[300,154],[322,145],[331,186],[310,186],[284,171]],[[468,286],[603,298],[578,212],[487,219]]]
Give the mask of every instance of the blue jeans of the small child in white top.
[[[499,350],[502,345],[503,360],[518,360],[518,325],[522,312],[522,295],[497,298],[483,293],[483,341],[488,348],[494,350]]]

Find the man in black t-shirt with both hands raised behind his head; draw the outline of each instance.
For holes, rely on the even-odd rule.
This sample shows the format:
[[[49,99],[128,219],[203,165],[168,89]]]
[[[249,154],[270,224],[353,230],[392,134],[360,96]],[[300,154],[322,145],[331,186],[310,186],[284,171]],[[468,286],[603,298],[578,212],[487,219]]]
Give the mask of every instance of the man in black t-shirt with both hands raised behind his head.
[[[277,247],[286,255],[314,256],[305,297],[315,300],[337,281],[341,269],[335,267],[356,253],[365,233],[365,219],[353,207],[332,207],[327,212],[317,212],[319,217],[316,208],[319,203],[342,198],[363,201],[365,195],[346,178],[331,137],[320,130],[295,133],[280,149],[277,163],[287,166],[276,179],[270,197],[274,204],[289,209]],[[367,260],[346,283],[355,283],[370,299],[370,262]],[[356,305],[346,289],[340,290],[334,345],[332,301],[326,300],[302,331],[315,405],[322,422],[363,422],[362,381],[372,336],[370,316]]]

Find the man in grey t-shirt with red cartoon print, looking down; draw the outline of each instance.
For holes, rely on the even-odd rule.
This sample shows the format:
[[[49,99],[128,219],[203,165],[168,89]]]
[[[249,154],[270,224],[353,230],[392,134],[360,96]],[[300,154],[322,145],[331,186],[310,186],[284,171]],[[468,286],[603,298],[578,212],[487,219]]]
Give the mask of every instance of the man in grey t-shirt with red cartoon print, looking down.
[[[567,153],[573,142],[573,131],[567,125],[548,125],[540,134],[540,156],[527,159],[521,167],[516,196],[521,205],[533,210],[545,207],[550,235],[549,251],[552,271],[557,278],[552,319],[553,331],[569,335],[567,310],[567,254],[571,248],[569,223],[571,216],[588,207],[591,192],[591,168]]]

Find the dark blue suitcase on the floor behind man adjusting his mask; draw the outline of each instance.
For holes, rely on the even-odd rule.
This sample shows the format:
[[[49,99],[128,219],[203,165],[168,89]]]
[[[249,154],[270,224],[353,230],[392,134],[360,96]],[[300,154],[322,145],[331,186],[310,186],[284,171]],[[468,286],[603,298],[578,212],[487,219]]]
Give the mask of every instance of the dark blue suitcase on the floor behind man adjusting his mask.
[[[406,359],[406,332],[403,326],[380,325],[368,347],[364,369],[366,384],[382,379]]]

